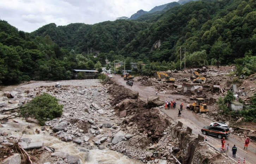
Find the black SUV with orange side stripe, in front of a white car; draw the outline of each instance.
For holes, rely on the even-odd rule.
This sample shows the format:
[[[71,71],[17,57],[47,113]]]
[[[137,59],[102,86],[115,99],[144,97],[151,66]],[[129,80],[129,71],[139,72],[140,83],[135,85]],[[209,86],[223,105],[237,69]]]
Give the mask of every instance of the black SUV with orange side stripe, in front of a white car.
[[[203,135],[217,136],[219,139],[223,137],[228,137],[230,135],[230,130],[226,126],[205,126],[201,129]]]

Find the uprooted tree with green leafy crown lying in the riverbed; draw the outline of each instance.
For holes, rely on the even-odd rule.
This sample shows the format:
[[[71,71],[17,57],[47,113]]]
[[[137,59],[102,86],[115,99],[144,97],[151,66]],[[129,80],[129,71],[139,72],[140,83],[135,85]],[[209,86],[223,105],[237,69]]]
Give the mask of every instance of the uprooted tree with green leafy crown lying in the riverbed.
[[[2,118],[0,120],[8,120],[16,117],[32,117],[38,120],[39,124],[44,125],[47,119],[53,119],[62,115],[63,105],[59,104],[59,100],[50,94],[43,93],[33,98],[29,103],[13,108],[4,110],[13,111],[11,116]]]

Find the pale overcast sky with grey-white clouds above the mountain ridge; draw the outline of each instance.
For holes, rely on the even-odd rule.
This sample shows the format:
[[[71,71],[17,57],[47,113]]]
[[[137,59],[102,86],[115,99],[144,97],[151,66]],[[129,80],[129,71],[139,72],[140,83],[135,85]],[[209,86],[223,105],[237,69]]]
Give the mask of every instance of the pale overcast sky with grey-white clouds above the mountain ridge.
[[[50,23],[96,24],[178,0],[0,0],[0,19],[32,32]]]

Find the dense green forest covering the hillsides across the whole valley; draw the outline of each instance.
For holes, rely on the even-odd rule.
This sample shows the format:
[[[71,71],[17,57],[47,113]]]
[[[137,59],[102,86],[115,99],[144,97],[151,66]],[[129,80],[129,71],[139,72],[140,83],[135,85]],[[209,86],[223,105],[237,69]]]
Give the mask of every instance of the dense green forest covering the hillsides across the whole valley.
[[[135,71],[150,74],[180,69],[185,53],[186,67],[237,64],[238,73],[256,72],[256,0],[170,5],[137,20],[52,23],[32,33],[0,20],[0,83],[71,79],[73,69],[100,69],[105,59],[136,62]]]

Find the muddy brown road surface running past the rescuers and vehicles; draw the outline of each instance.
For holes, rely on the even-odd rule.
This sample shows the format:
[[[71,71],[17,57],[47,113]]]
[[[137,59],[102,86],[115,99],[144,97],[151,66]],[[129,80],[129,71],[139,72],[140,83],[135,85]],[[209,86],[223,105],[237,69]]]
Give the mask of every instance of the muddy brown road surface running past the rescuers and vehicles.
[[[148,96],[155,96],[156,91],[155,91],[155,86],[141,86],[140,82],[135,82],[133,83],[133,86],[128,86],[126,85],[126,80],[123,80],[123,78],[119,75],[114,76],[113,78],[114,81],[116,81],[118,84],[123,85],[124,87],[130,88],[131,90],[135,90],[139,92],[139,98],[142,100],[147,100]],[[170,110],[165,110],[161,109],[162,112],[164,112],[167,116],[173,119],[176,123],[178,121],[183,123],[184,127],[189,126],[192,130],[193,133],[196,135],[200,134],[203,135],[201,132],[201,128],[203,126],[207,126],[211,123],[210,120],[207,118],[200,117],[199,114],[194,113],[193,111],[190,110],[183,110],[181,111],[181,117],[178,117],[178,107],[181,102],[186,102],[188,97],[183,96],[183,95],[171,95],[171,94],[160,94],[158,93],[158,97],[160,100],[165,101],[167,100],[176,100],[176,109],[170,109]],[[184,104],[184,108],[187,104]],[[221,141],[217,137],[212,137],[212,136],[206,136],[207,139],[209,140],[208,143],[211,144],[212,146],[216,147],[217,149],[220,150],[221,147]],[[238,158],[240,157],[240,163],[242,163],[243,159],[245,158],[246,163],[255,163],[256,161],[256,147],[254,144],[250,144],[248,150],[244,150],[244,138],[240,139],[236,135],[230,135],[229,137],[226,138],[226,144],[230,144],[230,151],[228,155],[230,156],[231,159],[234,160],[234,162],[238,161]],[[236,145],[238,150],[236,154],[236,158],[232,157],[232,152],[231,148],[233,145]],[[241,161],[242,160],[242,161]]]

